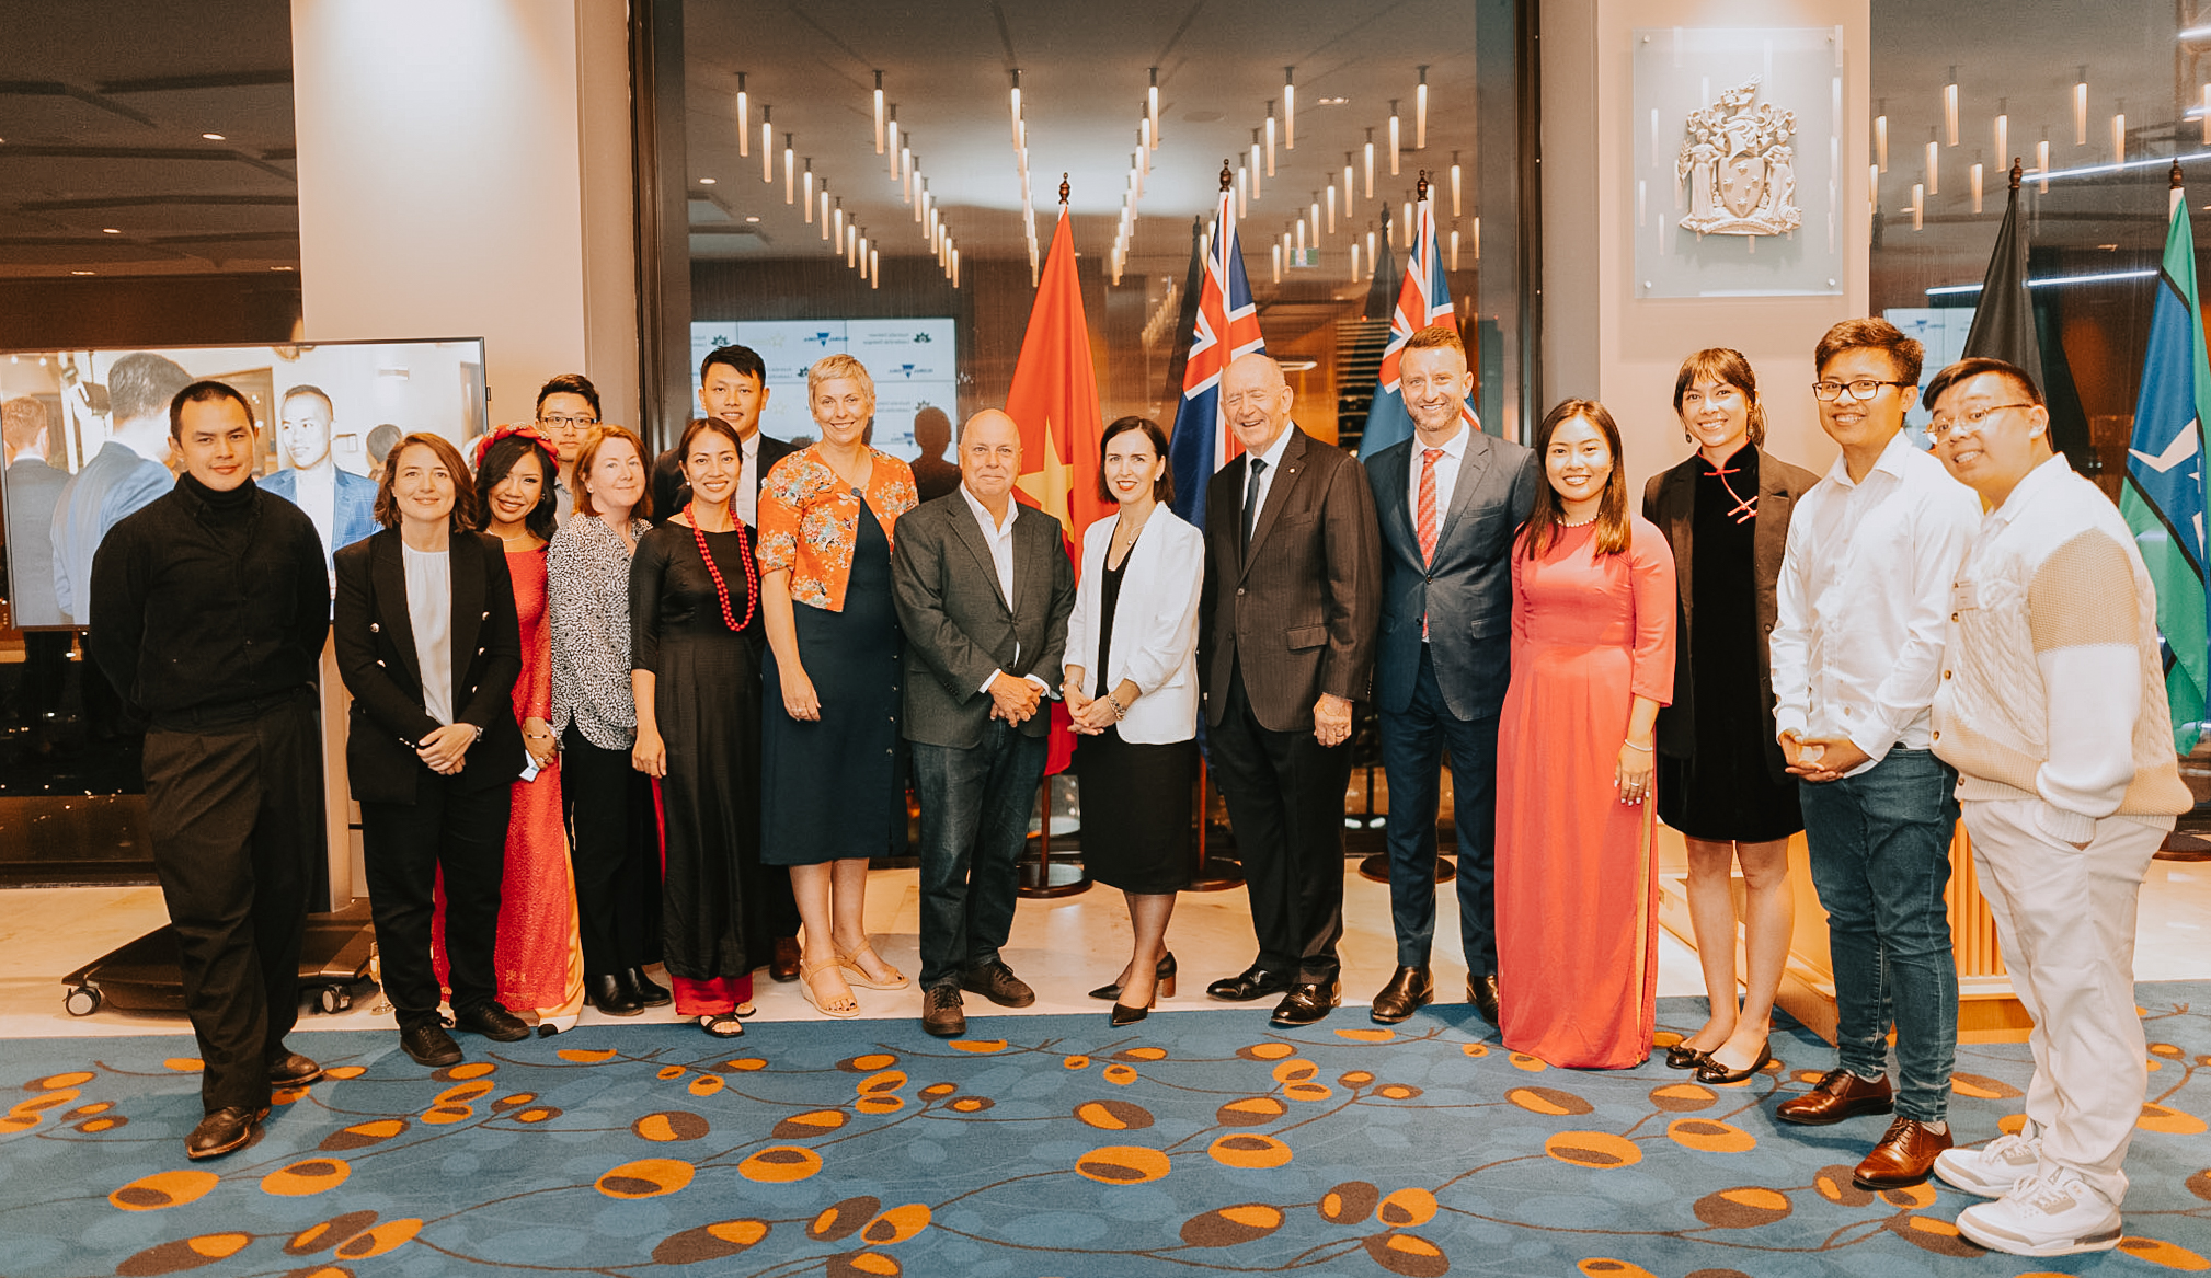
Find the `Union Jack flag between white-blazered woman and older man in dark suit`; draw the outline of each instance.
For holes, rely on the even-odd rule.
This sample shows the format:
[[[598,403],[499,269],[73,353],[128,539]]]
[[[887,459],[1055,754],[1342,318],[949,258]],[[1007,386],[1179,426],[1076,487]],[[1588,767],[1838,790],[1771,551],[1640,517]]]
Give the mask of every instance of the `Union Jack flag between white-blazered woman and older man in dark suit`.
[[[1240,354],[1265,352],[1258,305],[1243,272],[1236,243],[1236,192],[1220,192],[1214,237],[1205,250],[1205,281],[1198,285],[1198,323],[1190,336],[1183,369],[1183,402],[1174,411],[1167,462],[1174,469],[1174,513],[1205,528],[1205,484],[1229,464],[1243,444],[1220,411],[1220,371]]]

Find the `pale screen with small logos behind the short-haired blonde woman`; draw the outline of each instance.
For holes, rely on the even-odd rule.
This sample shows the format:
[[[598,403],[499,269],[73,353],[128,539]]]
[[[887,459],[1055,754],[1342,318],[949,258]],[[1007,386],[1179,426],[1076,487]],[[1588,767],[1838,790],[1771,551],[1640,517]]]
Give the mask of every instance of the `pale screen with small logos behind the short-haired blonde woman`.
[[[714,347],[743,345],[767,365],[761,429],[778,440],[811,440],[807,369],[827,354],[849,354],[876,380],[873,447],[893,458],[922,455],[913,416],[942,409],[960,422],[957,325],[951,318],[719,321],[692,323],[692,416],[699,413],[699,360]]]

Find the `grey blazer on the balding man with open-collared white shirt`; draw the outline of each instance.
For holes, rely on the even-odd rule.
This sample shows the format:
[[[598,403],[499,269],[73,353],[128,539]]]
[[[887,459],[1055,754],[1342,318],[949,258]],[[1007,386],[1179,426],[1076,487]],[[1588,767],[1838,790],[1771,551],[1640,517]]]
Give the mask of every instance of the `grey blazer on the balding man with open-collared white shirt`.
[[[907,632],[907,741],[968,750],[982,743],[993,670],[1059,688],[1075,612],[1075,566],[1059,520],[1013,504],[1013,606],[997,588],[991,544],[957,489],[898,517],[891,595]],[[1021,723],[1044,736],[1050,714]]]

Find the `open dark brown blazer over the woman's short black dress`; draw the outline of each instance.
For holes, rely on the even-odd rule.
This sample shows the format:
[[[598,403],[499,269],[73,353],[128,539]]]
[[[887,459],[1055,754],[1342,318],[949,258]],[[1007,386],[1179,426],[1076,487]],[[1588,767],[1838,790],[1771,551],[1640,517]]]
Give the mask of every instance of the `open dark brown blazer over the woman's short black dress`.
[[[1696,637],[1689,590],[1689,568],[1696,564],[1691,551],[1696,528],[1696,475],[1702,462],[1696,455],[1658,471],[1643,484],[1643,517],[1658,524],[1674,548],[1674,588],[1680,597],[1674,630],[1674,703],[1658,710],[1658,750],[1685,758],[1696,745],[1696,679],[1691,677],[1689,643]],[[1758,449],[1758,526],[1751,531],[1751,579],[1758,588],[1758,688],[1767,705],[1767,772],[1773,781],[1789,776],[1789,761],[1782,756],[1773,730],[1773,621],[1780,610],[1775,582],[1782,575],[1782,553],[1789,548],[1789,515],[1798,500],[1820,482],[1804,467],[1791,467],[1773,453]]]

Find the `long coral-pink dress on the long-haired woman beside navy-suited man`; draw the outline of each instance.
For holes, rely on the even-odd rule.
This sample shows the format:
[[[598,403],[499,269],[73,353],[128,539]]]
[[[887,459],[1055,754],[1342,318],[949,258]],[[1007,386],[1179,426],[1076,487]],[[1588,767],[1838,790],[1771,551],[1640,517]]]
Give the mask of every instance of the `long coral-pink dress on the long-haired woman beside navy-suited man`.
[[[1627,1068],[1658,1002],[1656,805],[1614,787],[1636,696],[1674,694],[1674,553],[1630,517],[1621,555],[1596,524],[1543,557],[1512,546],[1512,685],[1497,734],[1497,995],[1506,1048]]]

